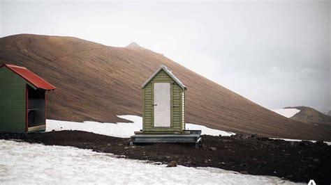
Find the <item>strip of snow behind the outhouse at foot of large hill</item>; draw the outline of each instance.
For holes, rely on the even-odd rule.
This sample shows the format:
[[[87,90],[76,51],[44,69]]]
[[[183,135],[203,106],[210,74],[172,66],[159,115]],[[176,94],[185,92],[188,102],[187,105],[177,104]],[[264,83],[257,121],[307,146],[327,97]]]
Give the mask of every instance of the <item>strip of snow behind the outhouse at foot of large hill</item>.
[[[119,118],[130,120],[132,122],[68,122],[59,120],[47,120],[46,131],[61,131],[61,130],[79,130],[90,131],[95,134],[103,134],[106,136],[114,136],[119,138],[129,138],[134,135],[134,131],[142,129],[142,118],[137,115],[117,115]],[[186,123],[186,129],[201,130],[202,134],[212,136],[230,136],[234,133],[221,131],[217,129],[210,129],[203,125]]]

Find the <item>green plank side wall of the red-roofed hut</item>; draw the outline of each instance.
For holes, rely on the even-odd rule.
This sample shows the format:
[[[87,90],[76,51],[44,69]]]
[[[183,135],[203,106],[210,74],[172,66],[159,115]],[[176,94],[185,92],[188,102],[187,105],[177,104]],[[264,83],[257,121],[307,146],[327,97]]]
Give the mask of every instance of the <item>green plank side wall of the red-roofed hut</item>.
[[[26,84],[7,67],[0,68],[0,132],[25,131]]]

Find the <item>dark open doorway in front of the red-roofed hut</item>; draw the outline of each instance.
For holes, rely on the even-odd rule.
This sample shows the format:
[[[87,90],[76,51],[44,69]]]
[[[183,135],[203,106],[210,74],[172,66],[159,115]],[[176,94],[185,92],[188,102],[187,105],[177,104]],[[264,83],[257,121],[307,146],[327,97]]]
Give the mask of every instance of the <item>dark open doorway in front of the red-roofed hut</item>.
[[[28,127],[45,124],[45,90],[28,88]]]

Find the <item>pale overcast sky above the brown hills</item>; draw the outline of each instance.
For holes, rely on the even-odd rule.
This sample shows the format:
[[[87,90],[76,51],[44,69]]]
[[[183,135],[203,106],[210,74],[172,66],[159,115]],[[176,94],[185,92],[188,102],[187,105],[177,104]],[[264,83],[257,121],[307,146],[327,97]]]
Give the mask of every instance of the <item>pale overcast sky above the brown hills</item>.
[[[1,1],[0,35],[68,35],[116,47],[137,42],[266,108],[327,111],[330,4]]]

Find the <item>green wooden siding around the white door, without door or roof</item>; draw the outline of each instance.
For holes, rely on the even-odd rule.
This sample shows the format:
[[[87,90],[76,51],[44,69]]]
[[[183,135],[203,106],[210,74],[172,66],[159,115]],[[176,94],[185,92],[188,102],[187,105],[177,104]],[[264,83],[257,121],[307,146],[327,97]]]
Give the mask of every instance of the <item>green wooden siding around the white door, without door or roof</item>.
[[[154,127],[154,83],[171,83],[171,127]],[[183,128],[182,88],[168,74],[161,70],[143,89],[143,127],[142,131],[180,132]]]

